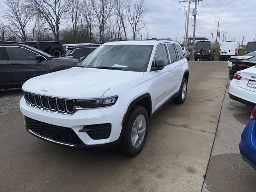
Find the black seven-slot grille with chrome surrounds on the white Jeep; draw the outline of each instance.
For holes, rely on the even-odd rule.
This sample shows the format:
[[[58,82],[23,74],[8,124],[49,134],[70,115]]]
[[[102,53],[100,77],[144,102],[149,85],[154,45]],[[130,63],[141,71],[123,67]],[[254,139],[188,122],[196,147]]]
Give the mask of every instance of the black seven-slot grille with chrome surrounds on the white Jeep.
[[[29,106],[61,114],[70,115],[74,113],[73,99],[55,98],[26,91],[24,91],[23,94],[26,104]]]

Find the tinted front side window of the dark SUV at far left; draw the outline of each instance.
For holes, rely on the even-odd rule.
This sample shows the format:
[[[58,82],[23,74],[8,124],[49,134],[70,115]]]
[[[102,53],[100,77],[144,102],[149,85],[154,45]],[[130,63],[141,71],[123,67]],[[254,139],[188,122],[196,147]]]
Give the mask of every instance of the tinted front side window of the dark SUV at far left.
[[[10,60],[36,60],[36,53],[21,47],[6,47]]]

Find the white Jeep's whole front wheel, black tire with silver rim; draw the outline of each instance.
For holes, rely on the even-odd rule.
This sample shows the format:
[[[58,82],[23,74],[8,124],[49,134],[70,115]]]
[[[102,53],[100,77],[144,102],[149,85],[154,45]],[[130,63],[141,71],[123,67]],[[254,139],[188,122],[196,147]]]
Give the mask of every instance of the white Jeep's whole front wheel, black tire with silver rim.
[[[143,106],[135,105],[128,115],[117,150],[126,156],[134,157],[142,150],[147,135],[148,112]]]

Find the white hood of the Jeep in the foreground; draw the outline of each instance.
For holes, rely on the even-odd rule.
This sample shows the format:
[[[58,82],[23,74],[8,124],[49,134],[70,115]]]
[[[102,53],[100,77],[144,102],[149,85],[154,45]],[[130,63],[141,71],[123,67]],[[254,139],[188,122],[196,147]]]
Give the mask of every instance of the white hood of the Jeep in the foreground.
[[[101,98],[108,89],[142,74],[143,72],[72,67],[31,78],[23,84],[22,89],[60,98]]]

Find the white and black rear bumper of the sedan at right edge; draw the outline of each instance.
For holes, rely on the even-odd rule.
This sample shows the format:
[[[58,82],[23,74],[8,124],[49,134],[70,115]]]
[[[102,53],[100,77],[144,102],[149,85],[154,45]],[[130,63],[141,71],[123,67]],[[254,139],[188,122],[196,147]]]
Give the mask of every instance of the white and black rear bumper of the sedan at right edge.
[[[251,106],[256,105],[255,92],[238,87],[235,79],[230,82],[228,94],[231,99],[240,103]]]

